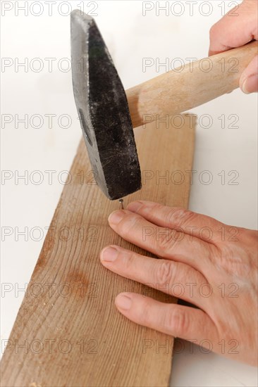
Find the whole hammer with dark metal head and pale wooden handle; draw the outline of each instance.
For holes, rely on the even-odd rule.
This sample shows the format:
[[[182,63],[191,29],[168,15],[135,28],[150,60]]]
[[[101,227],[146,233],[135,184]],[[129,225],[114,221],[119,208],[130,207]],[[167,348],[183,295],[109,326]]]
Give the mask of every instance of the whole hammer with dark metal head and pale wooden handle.
[[[94,177],[110,199],[141,188],[133,128],[238,88],[257,42],[173,69],[125,93],[94,19],[71,13],[73,94]]]

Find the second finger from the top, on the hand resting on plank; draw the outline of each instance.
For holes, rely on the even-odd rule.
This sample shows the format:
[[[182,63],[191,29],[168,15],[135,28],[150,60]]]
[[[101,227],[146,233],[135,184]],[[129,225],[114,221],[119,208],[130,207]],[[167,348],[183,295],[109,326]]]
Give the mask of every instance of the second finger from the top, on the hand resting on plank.
[[[156,226],[134,212],[118,210],[109,215],[109,225],[126,241],[161,258],[187,263],[200,272],[207,269],[211,250],[209,243],[182,232]]]

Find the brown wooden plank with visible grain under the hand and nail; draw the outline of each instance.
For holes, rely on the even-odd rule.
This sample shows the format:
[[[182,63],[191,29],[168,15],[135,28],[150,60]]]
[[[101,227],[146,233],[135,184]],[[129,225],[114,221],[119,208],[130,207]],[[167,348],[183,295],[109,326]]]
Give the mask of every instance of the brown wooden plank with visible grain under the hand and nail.
[[[195,119],[184,115],[182,120],[183,127],[135,129],[143,186],[125,205],[145,199],[187,207],[185,171],[192,167]],[[185,176],[182,184],[175,171]],[[176,299],[119,277],[99,262],[99,251],[109,243],[145,252],[109,228],[107,217],[118,201],[109,201],[92,184],[83,141],[70,176],[1,362],[1,385],[168,386],[173,338],[125,319],[114,298],[134,291],[164,302]]]

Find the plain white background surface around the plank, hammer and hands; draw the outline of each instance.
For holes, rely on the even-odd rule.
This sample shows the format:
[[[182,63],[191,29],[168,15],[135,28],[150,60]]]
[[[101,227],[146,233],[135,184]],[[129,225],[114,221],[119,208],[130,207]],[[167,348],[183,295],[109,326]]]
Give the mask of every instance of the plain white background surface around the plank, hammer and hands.
[[[71,72],[66,72],[67,62],[61,61],[70,58],[70,20],[65,15],[68,5],[58,8],[63,1],[56,1],[50,16],[49,6],[41,1],[42,15],[35,16],[32,13],[39,13],[40,8],[36,4],[30,9],[33,1],[28,1],[29,11],[25,16],[17,8],[24,1],[1,1],[2,7],[4,3],[13,5],[13,9],[1,18],[1,56],[11,58],[13,65],[1,69],[1,117],[9,114],[13,121],[1,129],[1,168],[11,171],[4,172],[11,174],[10,179],[2,179],[1,183],[2,240],[5,239],[1,248],[1,281],[9,289],[1,295],[1,339],[10,334],[24,296],[24,291],[18,288],[25,288],[30,280],[44,240],[35,241],[39,232],[30,236],[30,231],[40,227],[46,235],[63,189],[59,179],[66,179],[60,172],[69,170],[81,137]],[[94,8],[89,1],[66,3],[72,8],[78,8],[78,4],[82,7],[84,3],[86,12]],[[161,1],[160,5],[164,3]],[[175,1],[170,6],[172,3]],[[156,15],[154,8],[143,16],[142,1],[97,1],[95,18],[125,89],[166,70],[163,67],[156,72],[153,66],[143,72],[143,58],[153,58],[155,63],[156,58],[162,63],[166,58],[169,63],[174,58],[182,58],[187,63],[186,58],[206,57],[209,28],[221,18],[223,3],[229,11],[236,2],[209,1],[199,8],[204,2],[198,1],[193,15],[188,2],[181,3],[185,11],[180,16],[179,6],[172,8],[168,15],[165,11]],[[155,7],[156,1],[153,4]],[[3,15],[3,8],[1,11]],[[16,69],[15,64],[24,62],[25,58],[29,64],[27,72],[22,67]],[[42,71],[35,71],[39,63],[33,62],[33,58],[41,59]],[[44,58],[56,58],[52,71]],[[212,121],[209,125],[208,118],[204,118],[197,127],[193,166],[197,174],[191,188],[190,209],[227,224],[257,228],[257,96],[246,96],[237,90],[193,112],[199,117],[208,115]],[[39,125],[36,118],[27,128],[16,122],[25,114],[29,121],[35,114],[42,115],[42,127],[35,128]],[[53,127],[49,127],[46,114],[56,115]],[[70,127],[60,127],[58,118],[63,114],[70,115]],[[14,115],[18,115],[17,119]],[[225,128],[221,127],[221,115],[226,118]],[[238,115],[235,128],[230,127],[233,124],[232,116],[228,118],[230,115]],[[63,118],[61,126],[67,122]],[[42,172],[44,179],[39,185],[35,184],[39,175],[33,175],[36,170]],[[46,170],[56,171],[52,184]],[[199,182],[199,174],[204,170],[209,170],[213,177],[209,185]],[[24,175],[25,171],[28,171],[27,184],[24,179],[16,182],[15,177]],[[221,184],[218,175],[221,171],[225,171],[226,184]],[[228,184],[234,176],[228,176],[230,171],[237,171],[238,185]],[[29,234],[27,241],[25,236],[17,235],[25,227]],[[10,231],[11,235],[4,236],[3,230]],[[257,386],[257,369],[213,353],[203,354],[197,347],[193,354],[190,352],[186,348],[180,355],[174,355],[172,386]]]

